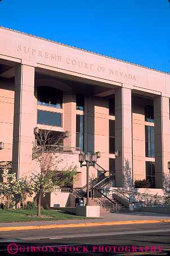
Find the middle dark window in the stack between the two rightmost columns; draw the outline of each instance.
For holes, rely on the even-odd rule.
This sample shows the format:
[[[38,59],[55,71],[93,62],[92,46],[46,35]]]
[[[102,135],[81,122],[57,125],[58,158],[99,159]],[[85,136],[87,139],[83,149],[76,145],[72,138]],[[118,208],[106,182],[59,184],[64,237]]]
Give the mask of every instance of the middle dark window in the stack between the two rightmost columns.
[[[145,157],[155,157],[154,127],[145,125]]]

